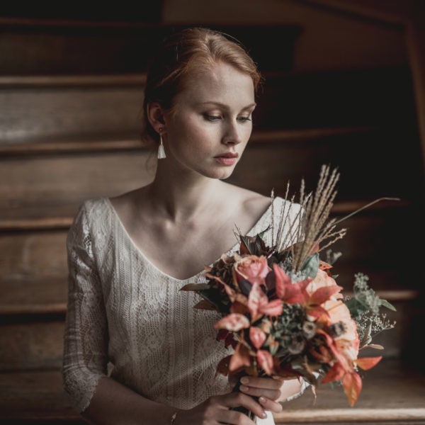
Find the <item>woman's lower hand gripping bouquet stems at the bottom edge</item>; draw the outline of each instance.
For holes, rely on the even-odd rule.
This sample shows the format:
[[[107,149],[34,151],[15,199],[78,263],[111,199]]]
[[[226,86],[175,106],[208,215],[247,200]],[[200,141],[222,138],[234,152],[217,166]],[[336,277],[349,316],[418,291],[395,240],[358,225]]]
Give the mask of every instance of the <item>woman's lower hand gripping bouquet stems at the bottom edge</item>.
[[[263,407],[255,399],[242,392],[230,392],[210,397],[193,409],[180,410],[174,425],[255,425],[246,414],[230,410],[231,407],[245,407],[259,418],[266,417]]]

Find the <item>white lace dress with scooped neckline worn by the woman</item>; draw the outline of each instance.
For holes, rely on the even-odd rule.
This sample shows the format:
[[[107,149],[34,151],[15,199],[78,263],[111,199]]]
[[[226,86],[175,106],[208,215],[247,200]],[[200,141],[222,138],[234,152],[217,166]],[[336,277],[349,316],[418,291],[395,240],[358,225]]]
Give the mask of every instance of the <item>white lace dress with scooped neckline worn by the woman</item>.
[[[275,221],[284,203],[275,198]],[[248,234],[266,229],[271,211],[269,205]],[[271,230],[264,239],[271,243]],[[235,244],[227,253],[238,248]],[[88,406],[98,380],[111,369],[111,378],[140,395],[181,409],[229,392],[227,378],[215,378],[217,363],[229,355],[223,342],[215,340],[213,324],[219,315],[194,309],[199,295],[180,291],[187,283],[205,281],[204,271],[184,280],[160,271],[130,239],[108,198],[80,205],[69,229],[67,253],[62,375],[78,412]],[[258,424],[274,424],[268,416]]]

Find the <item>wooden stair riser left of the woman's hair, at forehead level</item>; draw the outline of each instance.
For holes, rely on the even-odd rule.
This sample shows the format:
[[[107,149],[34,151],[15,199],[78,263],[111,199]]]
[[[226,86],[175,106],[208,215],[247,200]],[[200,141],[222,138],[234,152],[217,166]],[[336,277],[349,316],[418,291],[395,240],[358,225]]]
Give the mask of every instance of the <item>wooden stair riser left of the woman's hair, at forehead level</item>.
[[[142,86],[0,90],[0,140],[65,143],[84,135],[132,135],[142,125]]]

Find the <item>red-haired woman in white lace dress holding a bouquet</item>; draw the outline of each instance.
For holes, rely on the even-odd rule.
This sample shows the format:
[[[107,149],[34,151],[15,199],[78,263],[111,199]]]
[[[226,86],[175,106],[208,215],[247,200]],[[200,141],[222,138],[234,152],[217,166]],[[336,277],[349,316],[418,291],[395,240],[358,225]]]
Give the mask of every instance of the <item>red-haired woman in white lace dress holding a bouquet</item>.
[[[86,200],[74,218],[63,376],[91,423],[253,425],[232,409],[244,407],[273,424],[279,402],[302,390],[298,380],[249,378],[232,393],[215,377],[228,355],[215,340],[217,313],[193,309],[197,295],[179,291],[237,250],[234,224],[256,234],[270,223],[270,198],[222,181],[251,135],[259,80],[225,35],[171,36],[145,89],[146,132],[159,146],[154,180]]]

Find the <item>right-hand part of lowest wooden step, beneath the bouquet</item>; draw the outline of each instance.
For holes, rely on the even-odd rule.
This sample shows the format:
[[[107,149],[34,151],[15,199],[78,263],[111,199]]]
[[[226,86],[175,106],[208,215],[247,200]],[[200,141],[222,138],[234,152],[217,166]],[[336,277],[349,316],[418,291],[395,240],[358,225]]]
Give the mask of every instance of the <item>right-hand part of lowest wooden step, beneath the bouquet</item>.
[[[397,359],[383,360],[365,371],[355,407],[348,407],[341,387],[319,385],[315,404],[307,393],[285,404],[276,419],[285,424],[424,424],[424,370],[409,368]]]

